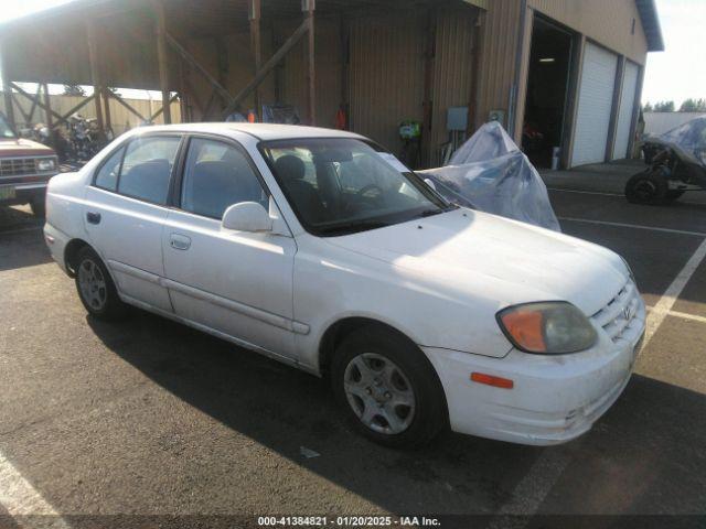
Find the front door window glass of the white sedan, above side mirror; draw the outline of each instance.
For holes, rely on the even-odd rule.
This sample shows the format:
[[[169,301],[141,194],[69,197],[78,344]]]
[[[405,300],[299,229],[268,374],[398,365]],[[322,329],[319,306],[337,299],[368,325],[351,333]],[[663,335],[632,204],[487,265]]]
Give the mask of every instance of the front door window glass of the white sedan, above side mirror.
[[[238,149],[215,140],[191,140],[181,185],[182,209],[221,219],[233,204],[257,202],[267,208],[268,199]]]

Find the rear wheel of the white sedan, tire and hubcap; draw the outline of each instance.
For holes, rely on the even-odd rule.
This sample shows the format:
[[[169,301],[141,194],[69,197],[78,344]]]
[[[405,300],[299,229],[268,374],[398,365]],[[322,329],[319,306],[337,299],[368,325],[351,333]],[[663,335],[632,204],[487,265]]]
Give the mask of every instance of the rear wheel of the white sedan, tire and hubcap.
[[[93,248],[85,246],[76,256],[76,291],[88,313],[99,320],[120,320],[127,305],[120,301],[108,269]]]

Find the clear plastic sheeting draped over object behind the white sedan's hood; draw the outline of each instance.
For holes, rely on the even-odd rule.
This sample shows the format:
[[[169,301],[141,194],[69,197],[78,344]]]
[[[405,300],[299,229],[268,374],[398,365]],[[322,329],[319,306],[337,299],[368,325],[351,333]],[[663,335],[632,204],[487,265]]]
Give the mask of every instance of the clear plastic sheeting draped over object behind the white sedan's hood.
[[[539,173],[496,121],[483,125],[449,165],[419,173],[449,202],[561,230]]]

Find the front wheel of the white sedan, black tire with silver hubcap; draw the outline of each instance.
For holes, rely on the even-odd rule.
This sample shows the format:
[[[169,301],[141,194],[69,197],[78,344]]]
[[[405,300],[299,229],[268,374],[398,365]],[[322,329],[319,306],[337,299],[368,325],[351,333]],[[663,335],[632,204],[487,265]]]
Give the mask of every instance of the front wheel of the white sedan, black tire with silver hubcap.
[[[349,335],[334,353],[330,376],[353,428],[378,444],[420,446],[448,424],[434,367],[413,343],[391,331],[367,326]]]

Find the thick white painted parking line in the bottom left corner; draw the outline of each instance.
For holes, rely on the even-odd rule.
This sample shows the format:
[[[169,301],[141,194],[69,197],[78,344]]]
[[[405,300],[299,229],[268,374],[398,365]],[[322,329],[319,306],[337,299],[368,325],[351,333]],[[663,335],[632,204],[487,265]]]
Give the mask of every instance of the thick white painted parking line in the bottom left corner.
[[[32,484],[22,477],[2,452],[0,452],[0,505],[20,526],[23,525],[22,517],[46,516],[51,517],[51,520],[46,520],[42,527],[71,528]]]

